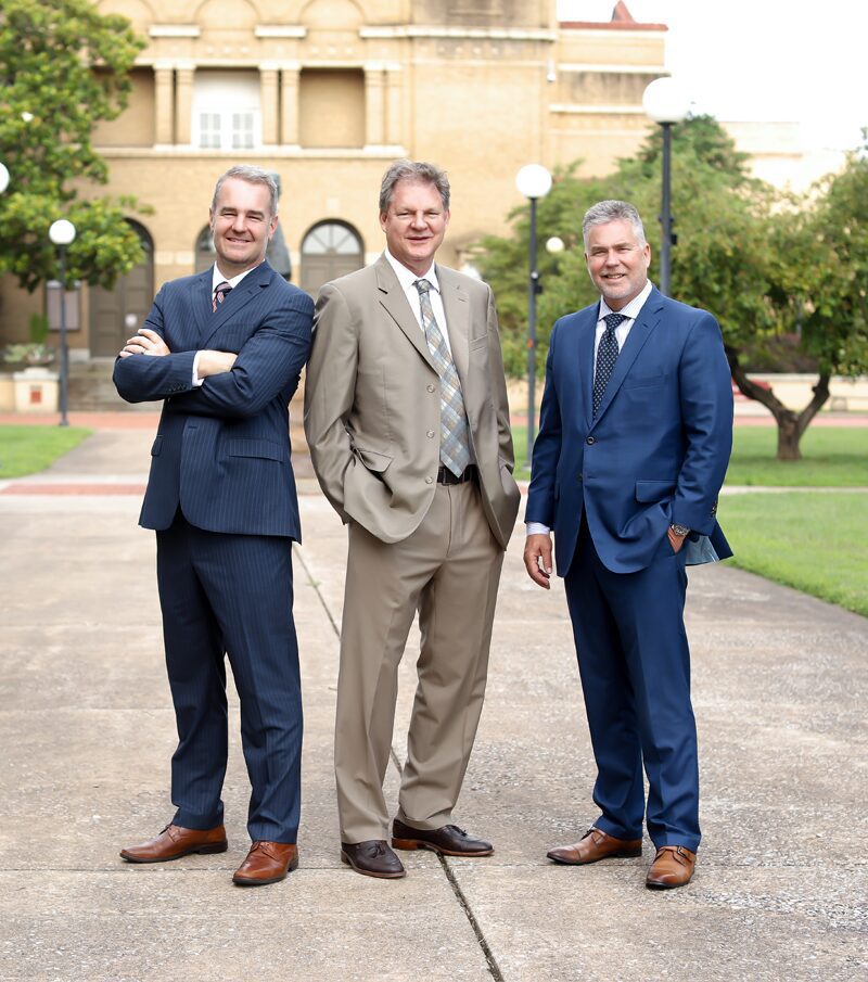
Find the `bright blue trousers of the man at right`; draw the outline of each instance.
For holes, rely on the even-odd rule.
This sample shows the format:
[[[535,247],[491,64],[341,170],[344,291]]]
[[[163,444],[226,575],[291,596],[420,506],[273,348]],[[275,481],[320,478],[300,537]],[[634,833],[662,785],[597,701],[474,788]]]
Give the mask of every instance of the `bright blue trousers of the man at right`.
[[[600,808],[595,825],[655,846],[700,842],[697,726],[684,626],[684,549],[661,543],[637,573],[612,573],[582,522],[565,579]],[[646,811],[642,767],[648,775]]]

